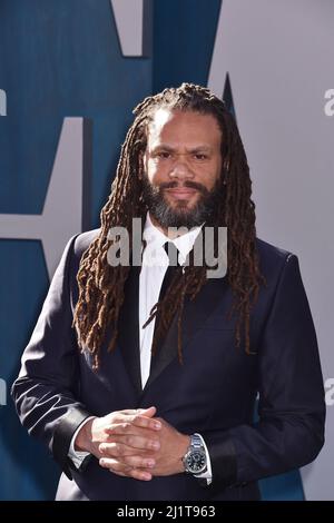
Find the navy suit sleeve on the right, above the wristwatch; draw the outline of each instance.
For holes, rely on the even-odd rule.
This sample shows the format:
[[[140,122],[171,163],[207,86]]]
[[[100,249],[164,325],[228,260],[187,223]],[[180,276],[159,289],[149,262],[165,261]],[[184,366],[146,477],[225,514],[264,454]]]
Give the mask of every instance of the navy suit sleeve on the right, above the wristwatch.
[[[258,347],[258,421],[204,434],[213,480],[243,484],[298,468],[324,443],[323,377],[298,259],[285,259]]]

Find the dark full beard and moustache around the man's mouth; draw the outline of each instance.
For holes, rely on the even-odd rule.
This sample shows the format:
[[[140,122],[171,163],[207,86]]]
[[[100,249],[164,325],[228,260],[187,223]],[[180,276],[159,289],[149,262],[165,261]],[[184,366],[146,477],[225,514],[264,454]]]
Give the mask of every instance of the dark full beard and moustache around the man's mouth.
[[[143,178],[143,198],[150,215],[163,228],[186,227],[188,229],[200,226],[203,223],[214,224],[223,200],[223,184],[220,178],[208,190],[202,184],[186,181],[183,187],[197,189],[199,197],[196,204],[188,208],[186,200],[179,200],[171,206],[165,198],[164,190],[178,187],[177,181],[169,181],[154,187],[147,176]]]

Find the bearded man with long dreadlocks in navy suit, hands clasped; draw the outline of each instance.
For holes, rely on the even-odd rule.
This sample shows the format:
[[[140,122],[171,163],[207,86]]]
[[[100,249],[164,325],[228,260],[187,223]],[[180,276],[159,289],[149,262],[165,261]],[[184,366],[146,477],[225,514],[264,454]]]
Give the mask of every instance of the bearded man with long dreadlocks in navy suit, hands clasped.
[[[297,257],[256,238],[222,100],[183,83],[134,112],[101,227],[70,239],[12,396],[63,470],[58,500],[257,500],[257,480],[310,463],[324,442]],[[135,249],[110,264],[112,231],[136,240],[134,218],[141,267]],[[194,255],[209,227],[227,228],[219,278]]]

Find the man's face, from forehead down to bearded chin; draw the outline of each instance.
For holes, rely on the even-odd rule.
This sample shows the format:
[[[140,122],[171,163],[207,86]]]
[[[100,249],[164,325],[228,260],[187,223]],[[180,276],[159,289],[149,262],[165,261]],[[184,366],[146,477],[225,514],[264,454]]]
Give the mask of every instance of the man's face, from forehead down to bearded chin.
[[[158,109],[144,155],[144,197],[163,228],[206,221],[220,195],[222,131],[216,118]]]

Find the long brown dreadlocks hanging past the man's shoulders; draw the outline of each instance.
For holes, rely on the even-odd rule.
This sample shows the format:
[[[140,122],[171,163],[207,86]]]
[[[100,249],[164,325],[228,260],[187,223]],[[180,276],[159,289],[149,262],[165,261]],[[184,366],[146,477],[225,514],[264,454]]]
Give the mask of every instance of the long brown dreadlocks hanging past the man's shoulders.
[[[146,98],[135,109],[135,121],[129,128],[121,147],[111,194],[101,210],[101,228],[98,237],[84,253],[77,276],[79,299],[75,310],[73,326],[79,344],[86,345],[94,355],[94,366],[99,366],[99,351],[107,329],[111,330],[109,351],[117,341],[117,324],[124,303],[124,286],[130,267],[111,267],[107,262],[110,247],[108,231],[112,227],[126,227],[131,245],[132,218],[146,216],[147,206],[143,197],[143,155],[147,145],[147,129],[157,109],[196,111],[213,115],[222,130],[222,158],[224,189],[215,215],[215,226],[227,227],[227,278],[233,290],[230,310],[236,314],[235,338],[239,346],[242,335],[245,351],[249,346],[250,308],[258,296],[259,284],[265,283],[259,273],[255,249],[255,205],[250,199],[252,181],[242,139],[224,101],[208,89],[191,83]],[[153,342],[153,354],[158,341],[167,333],[174,317],[178,327],[178,356],[181,362],[181,317],[185,298],[194,299],[206,282],[206,266],[195,266],[193,251],[184,272],[175,270],[173,280],[161,302],[151,309],[145,326],[157,317]],[[230,317],[229,315],[229,317]]]

